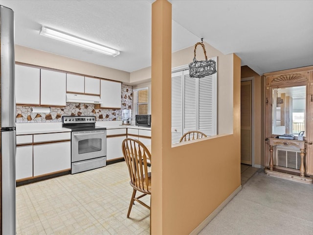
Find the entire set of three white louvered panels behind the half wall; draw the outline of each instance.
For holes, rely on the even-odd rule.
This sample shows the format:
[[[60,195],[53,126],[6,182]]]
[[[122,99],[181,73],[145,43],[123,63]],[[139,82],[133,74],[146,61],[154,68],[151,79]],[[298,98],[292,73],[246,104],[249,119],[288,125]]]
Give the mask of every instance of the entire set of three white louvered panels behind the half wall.
[[[192,78],[187,68],[172,72],[172,143],[187,131],[217,134],[217,73]]]

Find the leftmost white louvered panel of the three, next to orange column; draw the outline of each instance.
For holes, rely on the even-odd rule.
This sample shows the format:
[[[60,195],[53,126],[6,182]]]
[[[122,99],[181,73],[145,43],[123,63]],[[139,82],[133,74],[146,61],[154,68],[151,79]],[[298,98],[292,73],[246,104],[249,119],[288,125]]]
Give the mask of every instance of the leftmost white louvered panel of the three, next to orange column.
[[[172,143],[182,136],[182,71],[172,73]]]

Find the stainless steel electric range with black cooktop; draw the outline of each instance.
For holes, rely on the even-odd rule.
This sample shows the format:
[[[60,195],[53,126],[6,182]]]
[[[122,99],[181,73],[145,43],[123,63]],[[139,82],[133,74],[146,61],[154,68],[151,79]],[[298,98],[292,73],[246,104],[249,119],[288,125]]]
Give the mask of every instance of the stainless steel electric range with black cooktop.
[[[107,164],[107,128],[95,122],[94,116],[62,117],[62,126],[72,130],[71,174]]]

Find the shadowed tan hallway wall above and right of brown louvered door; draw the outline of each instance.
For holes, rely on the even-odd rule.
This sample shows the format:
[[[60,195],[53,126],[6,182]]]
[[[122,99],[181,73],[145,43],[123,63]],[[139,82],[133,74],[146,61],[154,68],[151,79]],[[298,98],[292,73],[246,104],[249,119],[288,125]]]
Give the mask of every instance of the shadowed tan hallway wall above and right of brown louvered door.
[[[254,77],[253,79],[253,150],[254,150],[254,164],[257,166],[264,165],[264,124],[262,121],[262,104],[261,94],[263,86],[261,84],[261,76],[248,66],[241,67],[241,78]],[[262,137],[263,136],[263,137]]]

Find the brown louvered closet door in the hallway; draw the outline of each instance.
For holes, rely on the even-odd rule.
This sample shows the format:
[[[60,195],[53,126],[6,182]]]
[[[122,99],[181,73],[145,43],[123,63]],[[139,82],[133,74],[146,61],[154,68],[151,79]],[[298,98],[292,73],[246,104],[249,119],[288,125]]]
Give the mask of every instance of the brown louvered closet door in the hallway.
[[[241,163],[252,164],[251,138],[251,99],[252,99],[252,82],[241,82]]]

